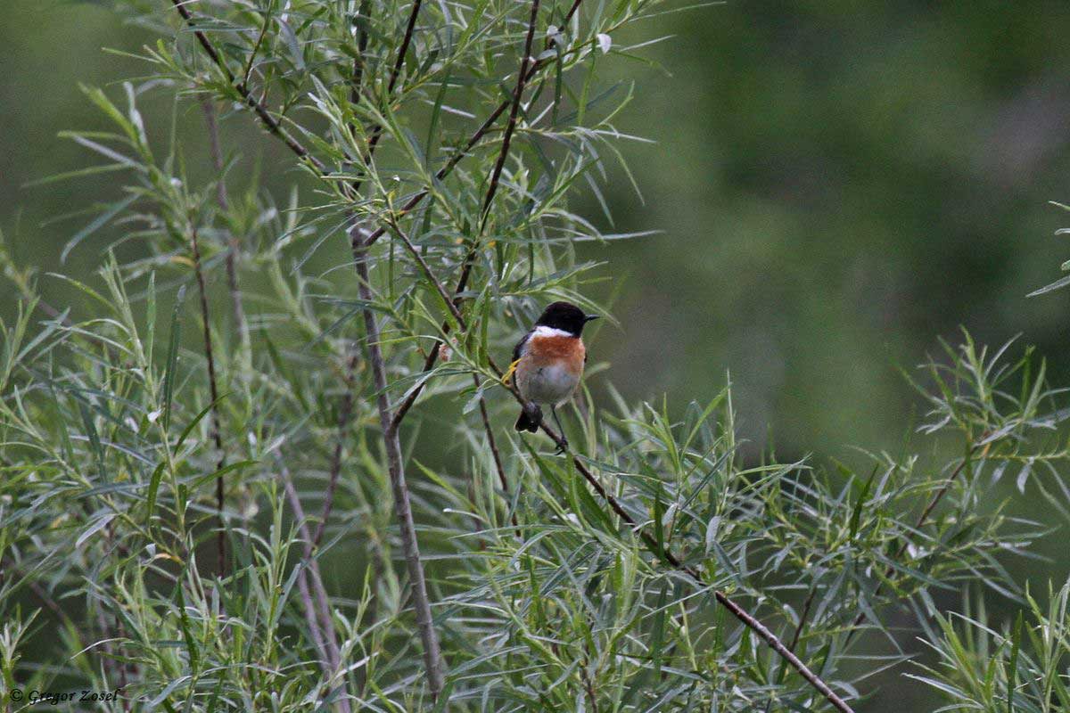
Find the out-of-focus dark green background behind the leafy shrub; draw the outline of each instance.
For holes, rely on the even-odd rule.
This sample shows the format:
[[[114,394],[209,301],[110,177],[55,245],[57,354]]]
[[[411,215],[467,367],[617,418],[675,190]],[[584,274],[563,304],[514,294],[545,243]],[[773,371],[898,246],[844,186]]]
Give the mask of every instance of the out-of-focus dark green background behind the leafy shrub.
[[[56,138],[102,125],[78,82],[147,72],[102,48],[135,51],[153,35],[105,3],[2,5],[0,227],[20,262],[57,269],[90,218],[52,219],[113,199],[116,183],[26,184],[91,160]],[[662,68],[614,69],[637,82],[618,128],[656,140],[625,145],[643,200],[611,171],[614,230],[662,233],[585,248],[624,281],[621,327],[592,345],[611,362],[599,378],[683,405],[731,372],[744,434],[785,459],[901,443],[919,402],[897,369],[960,325],[988,342],[1022,332],[1070,383],[1070,291],[1025,297],[1070,257],[1051,237],[1070,216],[1048,204],[1070,201],[1070,3],[740,1],[663,15],[633,40],[661,35],[642,53]],[[167,125],[169,103],[142,109]],[[201,121],[190,103],[181,111]],[[262,166],[292,165],[251,120],[225,130]],[[192,166],[203,152],[190,148]],[[281,197],[294,177],[265,184]],[[63,269],[88,274],[117,235]],[[14,299],[0,285],[0,313]],[[1061,582],[1067,564],[1043,571]]]

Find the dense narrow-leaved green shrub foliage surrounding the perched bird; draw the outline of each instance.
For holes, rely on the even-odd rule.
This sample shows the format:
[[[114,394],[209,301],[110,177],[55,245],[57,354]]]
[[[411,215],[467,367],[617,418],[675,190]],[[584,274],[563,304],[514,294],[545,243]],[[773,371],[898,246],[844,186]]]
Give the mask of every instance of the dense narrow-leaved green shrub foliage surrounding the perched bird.
[[[138,5],[131,18],[159,24]],[[1005,569],[1048,528],[990,497],[1014,472],[1066,507],[1068,412],[1028,351],[1008,362],[1009,344],[990,355],[966,336],[923,369],[921,437],[953,440],[950,460],[904,447],[858,465],[754,462],[728,387],[682,414],[584,393],[575,458],[508,429],[510,342],[551,299],[597,307],[582,292],[607,273],[576,244],[636,237],[599,232],[569,199],[600,197],[615,142],[633,138],[612,123],[630,86],[596,68],[633,51],[615,37],[658,3],[180,7],[124,102],[87,89],[111,130],[65,135],[124,176],[64,251],[123,233],[95,276],[58,278],[82,304],[45,305],[0,255],[22,295],[0,353],[4,695],[121,687],[167,711],[826,710],[771,637],[857,699],[910,657],[904,619],[956,662],[983,653],[984,637],[947,623],[966,583],[1065,619],[1065,593],[1040,614]],[[204,104],[210,144],[217,105],[258,122],[315,189],[284,204],[253,176],[233,192],[241,159],[226,152],[195,184],[173,128],[138,109],[160,93]],[[441,467],[421,448],[430,429],[453,441]],[[1061,661],[1061,640],[1023,646],[1036,630],[1015,631],[1004,691]],[[947,681],[969,676],[923,680],[966,700]]]

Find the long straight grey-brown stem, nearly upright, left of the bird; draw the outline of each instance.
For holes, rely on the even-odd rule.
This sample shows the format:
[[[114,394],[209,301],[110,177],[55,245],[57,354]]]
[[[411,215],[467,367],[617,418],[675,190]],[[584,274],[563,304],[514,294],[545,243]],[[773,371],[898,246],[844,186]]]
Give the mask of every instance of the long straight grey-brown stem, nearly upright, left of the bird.
[[[358,233],[360,228],[354,226],[352,231]],[[358,239],[357,236],[353,237],[354,243],[358,242]],[[372,299],[372,294],[369,286],[366,253],[363,253],[361,259],[356,261],[356,270],[360,277],[357,286],[361,299],[368,304]],[[383,430],[383,445],[386,448],[391,484],[394,489],[394,509],[398,518],[406,564],[409,568],[413,608],[416,610],[416,625],[419,630],[419,637],[424,647],[424,666],[427,669],[428,688],[430,689],[431,697],[438,700],[444,685],[445,666],[442,661],[442,652],[439,649],[438,633],[434,631],[434,622],[431,617],[431,605],[427,595],[424,564],[419,559],[416,527],[413,523],[412,506],[409,501],[409,486],[406,484],[401,441],[398,437],[397,429],[391,422],[391,406],[386,400],[386,365],[383,361],[383,352],[380,345],[379,325],[376,323],[374,313],[370,308],[365,308],[362,311],[364,312],[364,325],[367,330],[368,361],[371,363],[374,388],[378,392],[376,403],[379,408],[379,420]]]

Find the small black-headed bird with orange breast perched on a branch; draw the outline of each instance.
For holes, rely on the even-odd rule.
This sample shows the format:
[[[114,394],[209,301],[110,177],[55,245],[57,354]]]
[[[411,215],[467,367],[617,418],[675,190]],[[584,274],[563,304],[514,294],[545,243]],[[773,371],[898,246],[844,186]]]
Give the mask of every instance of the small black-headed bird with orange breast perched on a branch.
[[[517,345],[509,367],[517,391],[523,400],[517,431],[536,433],[542,423],[541,404],[550,406],[561,432],[561,447],[568,447],[565,430],[557,418],[557,406],[568,401],[580,384],[587,351],[583,345],[583,326],[597,314],[585,314],[570,303],[549,305]]]

